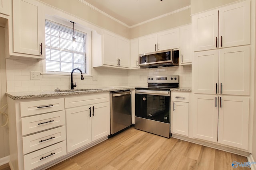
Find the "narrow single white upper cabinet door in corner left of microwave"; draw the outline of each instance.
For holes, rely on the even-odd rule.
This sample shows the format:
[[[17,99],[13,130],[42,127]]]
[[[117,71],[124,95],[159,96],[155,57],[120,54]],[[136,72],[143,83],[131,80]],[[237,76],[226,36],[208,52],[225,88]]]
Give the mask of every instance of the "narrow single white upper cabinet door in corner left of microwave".
[[[131,67],[139,68],[139,41],[138,39],[131,40]]]

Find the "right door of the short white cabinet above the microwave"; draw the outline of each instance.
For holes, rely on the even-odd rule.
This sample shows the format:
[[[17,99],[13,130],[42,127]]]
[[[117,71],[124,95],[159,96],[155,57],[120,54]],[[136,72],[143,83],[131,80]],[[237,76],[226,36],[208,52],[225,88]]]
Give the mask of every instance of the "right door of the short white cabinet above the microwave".
[[[157,51],[180,48],[180,29],[171,29],[157,34]]]

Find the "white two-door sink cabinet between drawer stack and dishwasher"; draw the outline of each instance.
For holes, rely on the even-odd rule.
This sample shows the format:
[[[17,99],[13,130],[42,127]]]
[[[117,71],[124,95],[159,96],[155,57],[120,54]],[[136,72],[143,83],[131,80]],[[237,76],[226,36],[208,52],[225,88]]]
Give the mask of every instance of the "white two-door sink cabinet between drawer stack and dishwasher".
[[[66,98],[65,103],[71,107],[66,109],[68,152],[110,135],[109,93]]]

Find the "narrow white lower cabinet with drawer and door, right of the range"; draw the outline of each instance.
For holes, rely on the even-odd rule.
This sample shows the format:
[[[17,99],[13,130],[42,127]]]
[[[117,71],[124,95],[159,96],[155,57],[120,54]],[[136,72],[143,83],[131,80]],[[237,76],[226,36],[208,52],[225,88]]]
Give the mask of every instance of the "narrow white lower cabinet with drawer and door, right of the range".
[[[171,133],[188,136],[189,94],[172,92]]]

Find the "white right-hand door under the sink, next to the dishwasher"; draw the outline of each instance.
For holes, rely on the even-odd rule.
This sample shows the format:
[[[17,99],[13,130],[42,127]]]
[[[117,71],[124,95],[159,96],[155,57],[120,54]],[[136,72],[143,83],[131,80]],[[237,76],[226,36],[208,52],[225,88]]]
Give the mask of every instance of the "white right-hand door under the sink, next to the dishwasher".
[[[92,107],[92,141],[95,141],[110,135],[110,105],[105,102]]]

